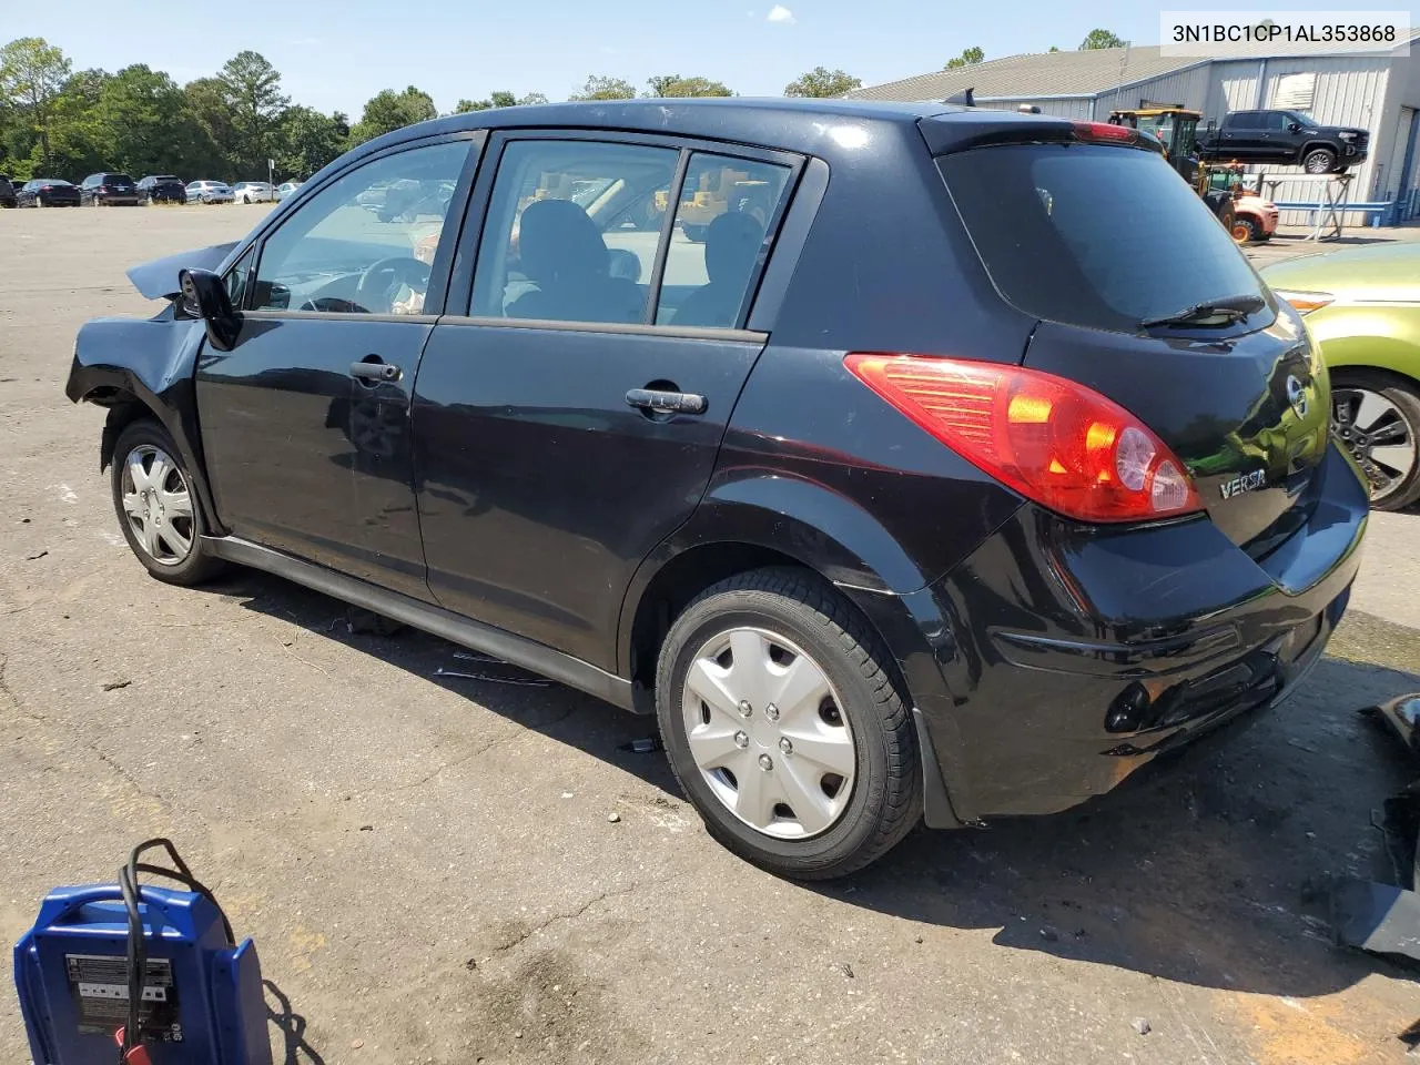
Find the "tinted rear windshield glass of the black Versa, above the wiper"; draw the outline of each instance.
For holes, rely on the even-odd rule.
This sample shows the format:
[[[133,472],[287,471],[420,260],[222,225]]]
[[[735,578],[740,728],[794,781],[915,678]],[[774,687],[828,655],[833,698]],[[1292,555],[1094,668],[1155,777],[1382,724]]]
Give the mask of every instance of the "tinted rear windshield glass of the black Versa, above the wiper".
[[[1153,152],[1012,145],[939,166],[993,283],[1027,314],[1137,332],[1194,304],[1262,295],[1213,212]]]

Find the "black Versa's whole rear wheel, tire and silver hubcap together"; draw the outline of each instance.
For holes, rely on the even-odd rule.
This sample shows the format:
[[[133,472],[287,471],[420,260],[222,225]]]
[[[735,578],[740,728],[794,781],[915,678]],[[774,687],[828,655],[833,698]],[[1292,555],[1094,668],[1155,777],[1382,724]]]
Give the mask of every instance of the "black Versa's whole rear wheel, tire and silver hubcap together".
[[[892,656],[811,574],[709,588],[670,626],[656,714],[706,829],[781,876],[843,876],[922,812],[913,724]]]

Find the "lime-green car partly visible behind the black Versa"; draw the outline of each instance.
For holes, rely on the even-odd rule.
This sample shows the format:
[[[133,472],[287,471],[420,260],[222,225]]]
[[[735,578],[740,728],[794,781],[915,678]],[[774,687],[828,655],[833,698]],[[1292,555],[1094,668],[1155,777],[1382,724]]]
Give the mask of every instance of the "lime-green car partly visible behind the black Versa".
[[[1306,317],[1331,368],[1332,432],[1377,510],[1420,498],[1420,243],[1289,258],[1262,270]]]

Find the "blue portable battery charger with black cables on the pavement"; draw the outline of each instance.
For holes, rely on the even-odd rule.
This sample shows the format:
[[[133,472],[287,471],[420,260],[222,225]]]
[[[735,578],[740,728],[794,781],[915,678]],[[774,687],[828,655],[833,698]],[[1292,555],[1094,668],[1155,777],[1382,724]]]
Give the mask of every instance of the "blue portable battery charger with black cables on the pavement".
[[[153,846],[176,869],[139,863]],[[139,872],[187,890],[139,886]],[[236,941],[166,839],[135,849],[116,885],[50,892],[14,984],[34,1065],[271,1065],[256,944]]]

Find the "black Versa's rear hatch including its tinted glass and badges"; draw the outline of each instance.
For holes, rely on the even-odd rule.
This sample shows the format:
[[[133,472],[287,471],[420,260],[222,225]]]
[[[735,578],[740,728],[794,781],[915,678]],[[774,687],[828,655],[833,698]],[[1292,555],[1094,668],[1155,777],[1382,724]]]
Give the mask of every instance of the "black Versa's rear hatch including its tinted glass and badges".
[[[1156,152],[1096,143],[1082,124],[1072,139],[968,148],[939,166],[997,290],[1039,320],[1025,366],[1143,420],[1255,558],[1302,525],[1328,444],[1325,366]]]

